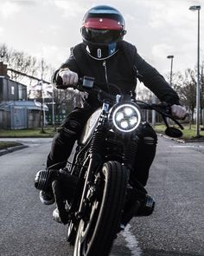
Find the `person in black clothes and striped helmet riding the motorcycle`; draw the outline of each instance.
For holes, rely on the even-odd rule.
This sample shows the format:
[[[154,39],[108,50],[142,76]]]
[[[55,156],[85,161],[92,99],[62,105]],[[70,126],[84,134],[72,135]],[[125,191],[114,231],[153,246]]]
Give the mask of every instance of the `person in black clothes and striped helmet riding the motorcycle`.
[[[131,43],[123,40],[126,34],[124,17],[107,5],[93,7],[86,12],[80,30],[83,43],[73,47],[71,55],[60,69],[54,72],[53,82],[58,89],[76,85],[84,75],[95,78],[103,84],[103,90],[112,92],[112,84],[119,85],[123,93],[133,94],[137,78],[149,88],[162,102],[171,105],[172,115],[182,119],[186,112],[179,103],[179,97],[156,69],[138,55]],[[62,84],[58,78],[61,77]],[[101,104],[96,97],[88,95],[82,108],[74,108],[54,136],[47,167],[61,162],[65,167],[74,142],[92,112]],[[139,142],[138,158],[133,180],[146,185],[149,169],[156,154],[156,133],[150,124],[143,122],[143,135]],[[41,202],[54,203],[54,195],[45,191],[40,193]]]

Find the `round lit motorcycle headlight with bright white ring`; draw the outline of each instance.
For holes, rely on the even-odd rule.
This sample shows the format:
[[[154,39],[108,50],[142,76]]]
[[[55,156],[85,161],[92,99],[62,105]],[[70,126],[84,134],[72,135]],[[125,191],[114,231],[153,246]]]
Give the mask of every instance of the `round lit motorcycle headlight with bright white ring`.
[[[112,122],[119,131],[130,133],[135,130],[141,121],[141,114],[137,105],[125,103],[113,109]]]

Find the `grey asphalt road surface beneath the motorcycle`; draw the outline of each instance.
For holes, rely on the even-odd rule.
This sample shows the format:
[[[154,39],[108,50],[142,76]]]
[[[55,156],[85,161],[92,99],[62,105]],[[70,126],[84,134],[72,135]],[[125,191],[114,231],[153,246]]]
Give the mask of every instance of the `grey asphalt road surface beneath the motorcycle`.
[[[0,255],[72,255],[66,227],[52,220],[34,188],[50,139],[0,156]],[[119,234],[112,256],[204,255],[204,145],[159,139],[147,189],[156,199],[151,217],[135,218]],[[97,255],[96,255],[97,256]]]

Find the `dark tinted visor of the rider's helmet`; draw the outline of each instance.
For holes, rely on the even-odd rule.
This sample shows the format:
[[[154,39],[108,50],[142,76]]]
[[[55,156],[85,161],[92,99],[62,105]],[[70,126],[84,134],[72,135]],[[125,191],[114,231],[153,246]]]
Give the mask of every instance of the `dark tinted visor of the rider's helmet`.
[[[121,39],[122,30],[95,30],[82,28],[82,36],[91,43],[112,43]]]

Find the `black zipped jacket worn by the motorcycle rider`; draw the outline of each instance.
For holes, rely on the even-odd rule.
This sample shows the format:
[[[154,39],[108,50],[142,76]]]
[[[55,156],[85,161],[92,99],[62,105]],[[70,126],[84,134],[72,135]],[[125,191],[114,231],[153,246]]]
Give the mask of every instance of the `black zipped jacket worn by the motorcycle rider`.
[[[123,93],[134,92],[137,86],[137,78],[149,88],[162,102],[171,105],[179,104],[179,97],[169,83],[165,81],[156,69],[145,62],[137,54],[137,49],[131,43],[121,41],[118,43],[118,52],[106,60],[95,60],[88,55],[86,45],[76,45],[71,56],[63,63],[60,69],[68,68],[78,73],[79,77],[84,75],[95,78],[97,84],[103,84],[104,90],[110,91],[108,83],[116,84]],[[54,83],[59,69],[54,73]],[[88,97],[87,102],[91,105],[97,103],[97,99]]]

